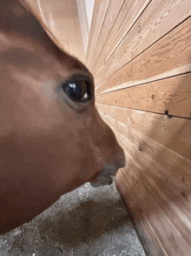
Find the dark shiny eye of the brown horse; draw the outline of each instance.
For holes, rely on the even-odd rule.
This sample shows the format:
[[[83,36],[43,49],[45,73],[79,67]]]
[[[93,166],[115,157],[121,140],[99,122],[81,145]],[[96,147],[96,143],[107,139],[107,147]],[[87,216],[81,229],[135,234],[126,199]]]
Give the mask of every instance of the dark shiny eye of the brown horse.
[[[71,80],[62,84],[62,88],[73,101],[85,103],[92,98],[91,84],[86,80]]]

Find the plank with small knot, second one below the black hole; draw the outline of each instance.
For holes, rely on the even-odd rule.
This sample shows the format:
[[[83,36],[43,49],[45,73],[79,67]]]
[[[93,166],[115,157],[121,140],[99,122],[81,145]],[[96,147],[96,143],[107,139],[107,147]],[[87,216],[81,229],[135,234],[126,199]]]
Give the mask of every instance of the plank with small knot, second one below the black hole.
[[[184,158],[180,154],[169,150],[167,147],[155,142],[152,138],[148,138],[139,131],[135,131],[128,126],[123,125],[114,118],[110,118],[102,113],[100,114],[103,120],[114,129],[115,133],[120,133],[120,139],[125,148],[128,143],[128,147],[131,150],[128,154],[133,154],[134,152],[135,155],[141,154],[141,156],[149,159],[149,161],[152,161],[151,168],[160,170],[157,172],[159,179],[165,177],[163,182],[168,182],[168,186],[174,184],[182,189],[181,192],[188,194],[191,183],[191,161],[188,158]],[[139,159],[138,161],[141,160]],[[145,165],[144,162],[142,163],[142,166],[143,165]],[[147,168],[148,163],[145,165],[146,170]],[[166,179],[168,179],[168,181]],[[186,199],[185,202],[187,202]]]

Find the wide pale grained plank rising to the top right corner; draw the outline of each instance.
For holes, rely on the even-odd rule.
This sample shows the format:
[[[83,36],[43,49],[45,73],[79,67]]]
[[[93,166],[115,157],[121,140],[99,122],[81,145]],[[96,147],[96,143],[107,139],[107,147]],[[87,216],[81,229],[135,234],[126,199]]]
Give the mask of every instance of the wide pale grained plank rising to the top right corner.
[[[103,56],[99,57],[94,67],[96,84],[102,83],[123,65],[157,42],[168,31],[175,28],[177,24],[181,24],[190,15],[191,10],[188,6],[189,0],[152,1],[115,51],[111,44],[107,46],[107,49],[107,44],[105,45],[102,51]],[[113,53],[110,54],[111,52]]]

